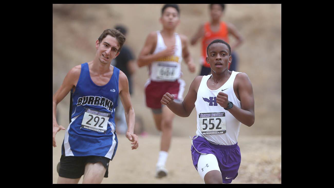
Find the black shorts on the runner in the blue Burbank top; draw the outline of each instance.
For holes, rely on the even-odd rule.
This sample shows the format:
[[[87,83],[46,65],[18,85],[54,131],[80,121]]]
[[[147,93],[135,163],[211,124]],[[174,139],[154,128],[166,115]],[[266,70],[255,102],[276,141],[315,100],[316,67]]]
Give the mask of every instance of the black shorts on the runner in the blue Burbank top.
[[[108,178],[108,167],[110,159],[101,156],[61,156],[58,175],[63,178],[77,179],[85,173],[87,163],[101,162],[107,169],[104,175]]]

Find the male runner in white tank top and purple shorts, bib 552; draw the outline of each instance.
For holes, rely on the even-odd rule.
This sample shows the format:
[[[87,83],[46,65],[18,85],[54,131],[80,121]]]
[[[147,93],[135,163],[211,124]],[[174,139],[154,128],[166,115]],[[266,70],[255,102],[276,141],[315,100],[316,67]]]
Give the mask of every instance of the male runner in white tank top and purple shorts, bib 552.
[[[181,117],[188,117],[196,107],[193,165],[205,183],[231,183],[241,162],[237,145],[240,125],[252,126],[255,121],[253,87],[245,73],[228,70],[232,60],[228,43],[212,41],[207,54],[212,74],[197,76],[183,102],[166,93],[161,103]]]

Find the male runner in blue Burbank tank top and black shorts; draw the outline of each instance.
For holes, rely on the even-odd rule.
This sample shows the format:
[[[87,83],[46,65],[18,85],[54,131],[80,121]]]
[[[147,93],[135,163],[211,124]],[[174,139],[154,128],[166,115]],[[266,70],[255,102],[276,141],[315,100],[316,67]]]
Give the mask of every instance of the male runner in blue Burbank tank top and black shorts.
[[[128,124],[126,137],[138,148],[138,136],[133,133],[135,112],[132,108],[126,75],[112,66],[125,42],[116,29],[106,29],[96,41],[93,61],[73,67],[65,76],[52,99],[52,146],[55,135],[63,126],[56,121],[57,104],[68,94],[72,96],[71,122],[62,143],[57,183],[101,183],[108,177],[109,161],[117,149],[115,108],[121,97]]]

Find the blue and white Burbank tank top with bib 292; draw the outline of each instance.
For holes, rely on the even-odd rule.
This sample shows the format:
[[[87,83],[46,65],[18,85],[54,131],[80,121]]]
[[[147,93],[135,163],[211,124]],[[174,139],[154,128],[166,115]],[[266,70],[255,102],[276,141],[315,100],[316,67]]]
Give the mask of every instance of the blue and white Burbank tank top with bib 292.
[[[65,131],[62,155],[103,156],[112,160],[117,149],[115,108],[119,96],[119,72],[104,86],[91,79],[88,63],[81,72],[72,96],[71,122]]]

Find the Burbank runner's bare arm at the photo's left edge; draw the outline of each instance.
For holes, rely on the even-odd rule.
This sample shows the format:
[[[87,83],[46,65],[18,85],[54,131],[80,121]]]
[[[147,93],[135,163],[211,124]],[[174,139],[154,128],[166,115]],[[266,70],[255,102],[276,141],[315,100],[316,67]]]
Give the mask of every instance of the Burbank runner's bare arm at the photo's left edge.
[[[59,130],[64,130],[63,126],[59,126],[57,122],[57,104],[64,99],[64,97],[68,94],[68,92],[76,86],[76,83],[79,80],[81,71],[81,65],[73,67],[65,76],[63,83],[60,88],[56,91],[56,93],[52,97],[52,146],[57,147],[56,145],[56,134]]]

